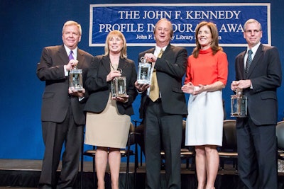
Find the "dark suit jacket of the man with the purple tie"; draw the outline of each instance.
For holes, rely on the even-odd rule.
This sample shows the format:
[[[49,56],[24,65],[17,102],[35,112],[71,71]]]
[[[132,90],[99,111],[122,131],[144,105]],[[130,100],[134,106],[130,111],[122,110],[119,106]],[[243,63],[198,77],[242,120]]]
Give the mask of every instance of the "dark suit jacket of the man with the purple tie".
[[[83,81],[87,77],[87,69],[93,60],[93,56],[78,48],[78,69],[82,69]],[[84,104],[85,99],[79,101],[77,96],[69,96],[69,77],[65,76],[64,65],[69,58],[64,45],[43,48],[40,63],[36,74],[41,81],[45,81],[43,103],[41,108],[41,120],[50,122],[62,122],[71,103],[72,113],[77,125],[85,124]],[[84,87],[85,88],[85,87]]]

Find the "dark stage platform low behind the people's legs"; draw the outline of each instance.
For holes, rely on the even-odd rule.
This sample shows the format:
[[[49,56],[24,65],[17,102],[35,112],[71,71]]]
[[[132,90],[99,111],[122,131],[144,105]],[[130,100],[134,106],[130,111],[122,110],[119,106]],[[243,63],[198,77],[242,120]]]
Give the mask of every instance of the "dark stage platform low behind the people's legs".
[[[25,160],[25,159],[0,159],[0,188],[36,188],[40,177],[41,160]],[[129,175],[129,189],[133,186],[133,167],[131,164],[131,173]],[[197,179],[194,168],[187,169],[185,164],[181,164],[181,179],[182,189],[197,188]],[[60,166],[58,173],[60,172]],[[78,173],[76,187],[80,188],[80,174]],[[136,187],[135,189],[145,188],[145,164],[137,169]],[[278,173],[279,187],[284,188],[284,173]],[[119,188],[126,188],[126,164],[121,164],[121,173],[119,178]],[[165,172],[161,171],[160,183],[162,188],[165,188]],[[110,175],[106,173],[106,189],[110,188]],[[97,188],[93,185],[92,176],[92,161],[84,161],[83,171],[83,188]],[[217,180],[215,183],[217,189],[234,189],[244,188],[244,185],[239,181],[239,176],[232,164],[225,164],[224,169],[218,171]]]

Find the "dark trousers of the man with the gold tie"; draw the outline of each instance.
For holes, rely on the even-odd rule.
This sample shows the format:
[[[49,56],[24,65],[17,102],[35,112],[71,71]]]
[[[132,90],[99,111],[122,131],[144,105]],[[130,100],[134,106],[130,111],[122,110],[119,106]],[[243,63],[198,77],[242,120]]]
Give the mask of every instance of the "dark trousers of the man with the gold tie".
[[[181,188],[182,115],[169,115],[160,101],[149,101],[144,118],[146,188],[160,188],[160,147],[165,150],[167,188]]]

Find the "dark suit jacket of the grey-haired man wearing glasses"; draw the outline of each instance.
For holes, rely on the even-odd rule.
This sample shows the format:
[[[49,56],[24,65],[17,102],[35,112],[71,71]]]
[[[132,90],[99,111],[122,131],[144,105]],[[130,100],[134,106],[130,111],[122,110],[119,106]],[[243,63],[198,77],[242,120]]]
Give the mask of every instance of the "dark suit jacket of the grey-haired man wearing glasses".
[[[253,57],[249,73],[244,72],[244,55],[241,52],[235,61],[236,81],[251,79],[253,88],[245,88],[248,98],[248,110],[256,125],[276,125],[278,100],[276,89],[281,85],[282,71],[276,47],[259,45]],[[241,121],[241,118],[238,118]]]

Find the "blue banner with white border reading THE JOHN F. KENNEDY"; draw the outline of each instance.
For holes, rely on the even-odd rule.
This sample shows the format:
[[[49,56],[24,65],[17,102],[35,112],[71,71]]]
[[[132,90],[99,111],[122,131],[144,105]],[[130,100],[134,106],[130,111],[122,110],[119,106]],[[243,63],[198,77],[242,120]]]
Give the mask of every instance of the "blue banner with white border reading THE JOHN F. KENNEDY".
[[[89,46],[104,46],[111,30],[124,33],[129,46],[153,46],[153,29],[160,18],[173,23],[174,45],[195,46],[195,28],[212,21],[219,30],[219,44],[246,46],[243,25],[256,18],[263,29],[263,44],[271,45],[271,4],[91,4]]]

